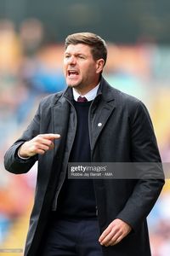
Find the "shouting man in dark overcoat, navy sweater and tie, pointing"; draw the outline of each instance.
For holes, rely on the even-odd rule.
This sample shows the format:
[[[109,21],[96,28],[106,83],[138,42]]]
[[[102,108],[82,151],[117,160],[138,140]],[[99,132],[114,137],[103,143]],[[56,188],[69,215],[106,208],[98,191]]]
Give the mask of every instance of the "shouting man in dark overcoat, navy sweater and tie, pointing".
[[[99,36],[68,36],[68,88],[42,99],[31,125],[5,155],[13,173],[28,172],[38,160],[26,256],[150,256],[146,217],[163,178],[67,175],[68,162],[161,162],[144,104],[102,77],[106,57]],[[162,174],[161,168],[156,172]]]

